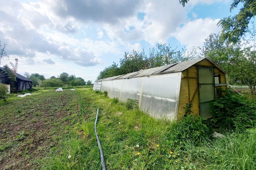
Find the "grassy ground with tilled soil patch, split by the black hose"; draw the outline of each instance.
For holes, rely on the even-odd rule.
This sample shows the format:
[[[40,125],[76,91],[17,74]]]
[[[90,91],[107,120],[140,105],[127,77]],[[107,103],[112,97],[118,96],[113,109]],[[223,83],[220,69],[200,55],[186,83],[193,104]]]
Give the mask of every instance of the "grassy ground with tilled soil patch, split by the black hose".
[[[184,121],[154,119],[92,88],[42,90],[6,102],[0,101],[0,169],[101,169],[98,107],[107,169],[256,168],[255,129],[198,138]]]

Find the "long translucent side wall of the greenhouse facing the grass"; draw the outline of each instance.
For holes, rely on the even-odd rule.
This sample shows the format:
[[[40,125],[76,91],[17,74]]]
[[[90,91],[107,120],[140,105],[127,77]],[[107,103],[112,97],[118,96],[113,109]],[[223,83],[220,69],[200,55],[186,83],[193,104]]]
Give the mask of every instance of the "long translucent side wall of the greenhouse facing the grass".
[[[101,82],[100,90],[121,101],[136,99],[139,109],[157,118],[177,119],[181,72]]]

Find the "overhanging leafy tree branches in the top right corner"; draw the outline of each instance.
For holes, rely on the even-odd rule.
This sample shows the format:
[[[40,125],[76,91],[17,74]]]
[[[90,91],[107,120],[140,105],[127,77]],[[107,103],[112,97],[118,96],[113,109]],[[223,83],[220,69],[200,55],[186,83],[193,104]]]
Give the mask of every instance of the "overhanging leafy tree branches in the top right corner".
[[[179,0],[184,7],[189,0]],[[256,15],[255,0],[234,0],[230,5],[230,12],[238,7],[239,3],[243,4],[237,15],[228,16],[219,21],[218,26],[222,27],[221,37],[232,43],[237,43],[239,39],[247,32],[248,24]]]

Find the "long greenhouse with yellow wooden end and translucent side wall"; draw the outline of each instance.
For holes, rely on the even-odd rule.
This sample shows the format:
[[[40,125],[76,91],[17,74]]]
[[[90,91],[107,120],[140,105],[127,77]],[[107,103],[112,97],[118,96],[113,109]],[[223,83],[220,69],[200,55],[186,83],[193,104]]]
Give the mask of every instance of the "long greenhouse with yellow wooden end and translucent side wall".
[[[203,118],[211,118],[210,103],[217,88],[229,87],[226,72],[211,58],[141,70],[95,81],[94,90],[107,91],[110,98],[136,99],[139,109],[157,118],[179,119],[187,103]]]

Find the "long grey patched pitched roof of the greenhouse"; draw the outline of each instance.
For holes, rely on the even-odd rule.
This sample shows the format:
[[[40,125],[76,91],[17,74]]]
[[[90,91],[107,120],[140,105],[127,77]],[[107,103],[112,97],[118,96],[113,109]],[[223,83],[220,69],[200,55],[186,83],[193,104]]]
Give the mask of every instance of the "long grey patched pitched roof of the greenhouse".
[[[193,66],[194,64],[196,64],[199,61],[202,61],[204,59],[207,59],[208,61],[213,63],[218,69],[220,69],[223,73],[226,73],[226,71],[223,70],[210,57],[201,57],[201,58],[197,58],[197,59],[194,59],[194,60],[183,61],[183,62],[174,63],[174,64],[170,64],[170,65],[166,65],[166,66],[154,67],[154,68],[151,68],[151,69],[140,70],[140,71],[136,71],[136,72],[133,72],[133,73],[128,73],[128,74],[118,75],[118,76],[114,76],[114,77],[99,79],[99,80],[96,80],[95,82],[114,80],[114,79],[126,79],[126,78],[133,78],[133,77],[143,77],[143,76],[148,76],[148,75],[153,75],[153,74],[164,74],[164,73],[180,72],[180,71],[186,70],[187,68]]]

